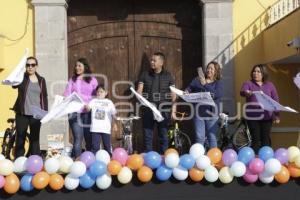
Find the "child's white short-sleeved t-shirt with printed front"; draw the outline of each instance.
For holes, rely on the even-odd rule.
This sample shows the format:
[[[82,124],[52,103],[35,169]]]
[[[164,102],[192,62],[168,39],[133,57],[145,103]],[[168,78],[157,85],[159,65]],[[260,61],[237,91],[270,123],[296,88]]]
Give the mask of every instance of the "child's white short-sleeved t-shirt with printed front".
[[[89,103],[92,110],[91,132],[111,133],[112,117],[116,114],[116,108],[109,99],[92,99]]]

